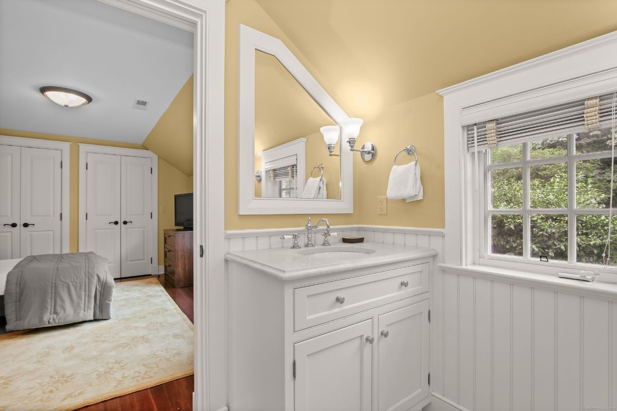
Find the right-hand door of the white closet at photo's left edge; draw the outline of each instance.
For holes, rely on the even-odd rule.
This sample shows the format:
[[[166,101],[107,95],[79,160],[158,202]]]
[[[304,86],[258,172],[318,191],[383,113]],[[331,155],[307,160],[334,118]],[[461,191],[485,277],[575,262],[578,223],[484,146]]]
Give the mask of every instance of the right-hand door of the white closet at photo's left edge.
[[[22,258],[60,253],[61,160],[60,150],[22,147]]]

